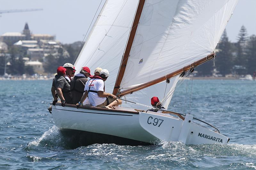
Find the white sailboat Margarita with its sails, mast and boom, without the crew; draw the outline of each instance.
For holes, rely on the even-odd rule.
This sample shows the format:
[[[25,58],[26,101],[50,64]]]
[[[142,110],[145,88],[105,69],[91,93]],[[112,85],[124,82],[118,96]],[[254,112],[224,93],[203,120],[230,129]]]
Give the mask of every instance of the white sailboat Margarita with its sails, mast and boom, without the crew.
[[[214,49],[236,4],[107,0],[74,65],[108,69],[105,91],[132,103],[123,102],[116,109],[57,103],[52,106],[56,126],[63,133],[85,137],[80,139],[82,145],[228,143],[217,128],[191,114],[158,113],[147,106],[157,96],[168,108],[184,76],[216,56]]]

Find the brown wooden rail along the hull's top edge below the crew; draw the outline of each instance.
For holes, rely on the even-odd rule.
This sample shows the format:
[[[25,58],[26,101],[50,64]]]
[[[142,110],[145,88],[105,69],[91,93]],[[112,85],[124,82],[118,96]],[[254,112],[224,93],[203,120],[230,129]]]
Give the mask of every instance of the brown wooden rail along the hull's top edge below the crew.
[[[56,103],[56,105],[61,106],[61,103]],[[72,105],[72,104],[65,104],[65,107],[76,107],[76,105]],[[63,108],[65,108],[63,107]],[[105,108],[100,108],[100,107],[88,107],[88,106],[79,106],[79,108],[83,108],[83,109],[88,109],[88,110],[98,110],[98,111],[106,111],[106,112],[117,112],[117,113],[130,113],[130,114],[136,114],[139,115],[139,112],[132,112],[132,111],[128,111],[128,110],[117,110],[117,109],[105,109]]]

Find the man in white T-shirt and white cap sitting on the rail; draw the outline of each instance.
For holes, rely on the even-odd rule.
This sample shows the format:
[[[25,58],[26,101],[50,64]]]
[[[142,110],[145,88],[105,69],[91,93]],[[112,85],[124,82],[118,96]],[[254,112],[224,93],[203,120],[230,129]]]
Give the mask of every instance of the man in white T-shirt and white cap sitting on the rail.
[[[89,102],[92,106],[102,107],[108,106],[110,108],[115,108],[122,103],[120,99],[116,99],[116,96],[105,92],[105,81],[109,76],[109,72],[106,69],[100,71],[99,76],[93,76],[88,80],[84,87],[84,94],[77,104],[81,106],[84,100],[89,98]]]

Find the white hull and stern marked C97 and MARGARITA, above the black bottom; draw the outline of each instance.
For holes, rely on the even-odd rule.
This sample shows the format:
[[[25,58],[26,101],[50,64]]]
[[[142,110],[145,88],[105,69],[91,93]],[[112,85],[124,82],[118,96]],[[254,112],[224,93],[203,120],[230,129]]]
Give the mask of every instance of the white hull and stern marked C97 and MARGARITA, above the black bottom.
[[[122,109],[122,110],[121,110]],[[74,105],[52,106],[58,128],[111,135],[135,141],[158,144],[160,141],[182,141],[185,144],[226,144],[228,137],[192,122],[193,115],[180,118],[156,112],[136,112],[116,107],[76,108]]]

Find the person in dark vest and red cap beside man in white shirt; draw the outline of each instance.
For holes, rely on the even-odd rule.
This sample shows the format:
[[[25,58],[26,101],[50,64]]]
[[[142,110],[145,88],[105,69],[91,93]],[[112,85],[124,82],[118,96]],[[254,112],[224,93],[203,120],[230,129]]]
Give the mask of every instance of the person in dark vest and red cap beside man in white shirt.
[[[84,93],[84,85],[88,80],[87,78],[91,76],[90,73],[91,71],[88,67],[83,67],[80,72],[72,78],[70,83],[70,91],[72,93],[73,104],[78,103],[82,98]]]

